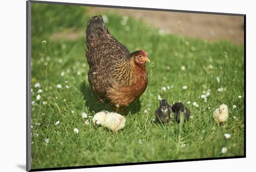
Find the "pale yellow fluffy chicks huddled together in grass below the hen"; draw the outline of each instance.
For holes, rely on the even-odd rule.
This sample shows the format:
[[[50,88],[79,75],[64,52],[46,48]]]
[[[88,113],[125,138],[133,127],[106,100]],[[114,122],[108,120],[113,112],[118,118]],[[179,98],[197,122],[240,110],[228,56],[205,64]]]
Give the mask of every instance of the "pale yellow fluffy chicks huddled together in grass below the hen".
[[[119,113],[102,111],[94,115],[93,123],[107,127],[114,133],[125,127],[126,118]]]

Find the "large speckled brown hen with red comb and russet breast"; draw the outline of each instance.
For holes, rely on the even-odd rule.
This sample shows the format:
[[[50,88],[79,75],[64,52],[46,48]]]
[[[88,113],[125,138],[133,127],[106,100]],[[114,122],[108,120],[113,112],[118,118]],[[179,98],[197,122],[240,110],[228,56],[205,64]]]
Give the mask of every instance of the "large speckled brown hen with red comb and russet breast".
[[[150,62],[147,54],[143,50],[130,53],[109,33],[101,16],[88,21],[86,45],[88,81],[98,101],[118,112],[144,93],[148,85],[145,63]]]

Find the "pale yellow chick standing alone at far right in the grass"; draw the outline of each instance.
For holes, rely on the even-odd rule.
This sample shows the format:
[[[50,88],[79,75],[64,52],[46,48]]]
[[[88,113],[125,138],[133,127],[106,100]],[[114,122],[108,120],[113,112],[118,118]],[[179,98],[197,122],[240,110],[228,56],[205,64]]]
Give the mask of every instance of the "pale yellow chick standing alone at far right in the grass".
[[[216,120],[216,123],[218,125],[224,123],[229,118],[229,109],[228,106],[225,104],[222,104],[219,108],[217,108],[213,112],[213,118]]]

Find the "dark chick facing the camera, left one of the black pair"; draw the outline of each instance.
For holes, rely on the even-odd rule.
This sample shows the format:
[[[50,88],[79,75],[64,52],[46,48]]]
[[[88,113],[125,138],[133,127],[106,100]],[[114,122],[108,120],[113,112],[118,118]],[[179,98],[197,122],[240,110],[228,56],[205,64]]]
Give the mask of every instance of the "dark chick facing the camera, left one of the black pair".
[[[160,101],[160,106],[155,111],[155,121],[158,123],[169,122],[171,120],[171,106],[165,99]]]

